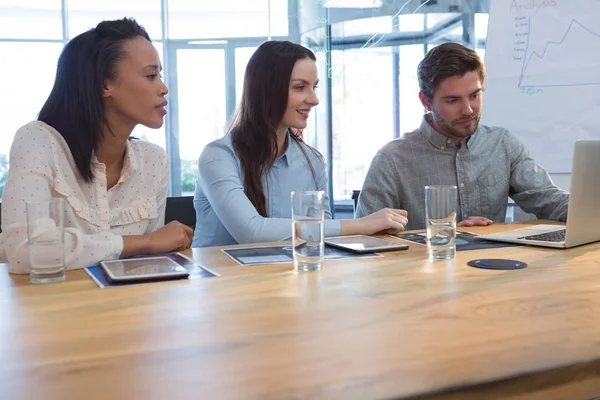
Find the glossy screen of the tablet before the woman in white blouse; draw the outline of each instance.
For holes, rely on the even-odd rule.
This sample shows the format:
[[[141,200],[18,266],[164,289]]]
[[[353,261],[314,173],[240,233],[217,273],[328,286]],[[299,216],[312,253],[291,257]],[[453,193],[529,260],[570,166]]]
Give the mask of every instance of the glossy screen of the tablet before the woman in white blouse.
[[[168,257],[132,258],[103,261],[102,266],[116,278],[135,276],[168,276],[187,273],[187,270]]]

